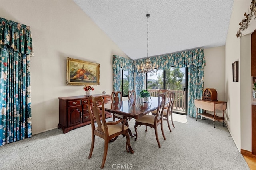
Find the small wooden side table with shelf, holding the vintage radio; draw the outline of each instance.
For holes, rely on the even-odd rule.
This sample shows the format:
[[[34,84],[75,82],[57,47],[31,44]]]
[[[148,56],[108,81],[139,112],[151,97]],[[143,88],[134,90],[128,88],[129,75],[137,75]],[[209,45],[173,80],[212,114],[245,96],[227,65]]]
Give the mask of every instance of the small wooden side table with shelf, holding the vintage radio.
[[[195,107],[196,107],[196,121],[197,116],[200,115],[202,117],[212,119],[213,126],[215,127],[215,121],[222,121],[224,125],[224,111],[227,109],[227,102],[226,101],[206,101],[201,99],[195,99]],[[198,109],[203,109],[203,113],[198,113]],[[213,112],[213,114],[206,113],[207,111]],[[221,110],[222,117],[216,115],[216,110]]]

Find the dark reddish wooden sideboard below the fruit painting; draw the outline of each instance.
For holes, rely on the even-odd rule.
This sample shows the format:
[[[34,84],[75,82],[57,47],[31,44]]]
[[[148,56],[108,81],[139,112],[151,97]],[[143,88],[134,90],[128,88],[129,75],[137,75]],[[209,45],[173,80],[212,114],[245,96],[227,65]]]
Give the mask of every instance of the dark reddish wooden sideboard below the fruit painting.
[[[111,103],[111,95],[92,95],[94,97],[101,96],[105,104]],[[59,97],[59,124],[58,128],[62,128],[63,133],[67,133],[75,128],[82,127],[91,123],[89,109],[89,96],[71,96]],[[98,105],[101,105],[99,102]],[[106,118],[112,117],[110,112],[105,111]]]

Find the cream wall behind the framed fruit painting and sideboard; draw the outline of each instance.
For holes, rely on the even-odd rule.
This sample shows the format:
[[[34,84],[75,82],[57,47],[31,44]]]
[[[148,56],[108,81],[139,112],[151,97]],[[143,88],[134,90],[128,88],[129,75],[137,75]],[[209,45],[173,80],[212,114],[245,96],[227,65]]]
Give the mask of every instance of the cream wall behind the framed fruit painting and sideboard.
[[[100,64],[93,94],[113,90],[112,55],[127,57],[73,1],[1,1],[2,18],[30,26],[32,134],[56,128],[58,97],[84,95],[66,85],[66,58]]]

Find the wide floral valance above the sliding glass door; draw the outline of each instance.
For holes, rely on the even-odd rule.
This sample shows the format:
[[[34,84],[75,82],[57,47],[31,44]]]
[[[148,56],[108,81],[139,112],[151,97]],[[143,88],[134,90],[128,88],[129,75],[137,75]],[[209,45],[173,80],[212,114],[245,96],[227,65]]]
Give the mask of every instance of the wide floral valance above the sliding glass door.
[[[177,68],[185,68],[194,65],[195,67],[205,66],[204,49],[194,49],[190,51],[183,51],[180,53],[173,53],[149,58],[152,64],[155,64],[158,69],[168,69],[171,66]],[[137,71],[138,65],[145,63],[146,58],[136,60],[135,69]]]

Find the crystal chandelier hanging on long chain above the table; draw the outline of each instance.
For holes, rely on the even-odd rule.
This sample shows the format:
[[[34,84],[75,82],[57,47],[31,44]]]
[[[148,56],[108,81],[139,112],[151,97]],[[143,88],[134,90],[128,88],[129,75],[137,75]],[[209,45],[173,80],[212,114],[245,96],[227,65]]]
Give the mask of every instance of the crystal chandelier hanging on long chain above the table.
[[[147,14],[146,17],[149,18],[150,14]],[[144,63],[142,62],[140,65],[137,65],[137,70],[139,73],[147,73],[149,76],[153,76],[154,73],[157,73],[158,68],[156,67],[155,64],[152,64],[150,59],[148,58],[148,50],[147,50],[147,59],[145,60]]]

